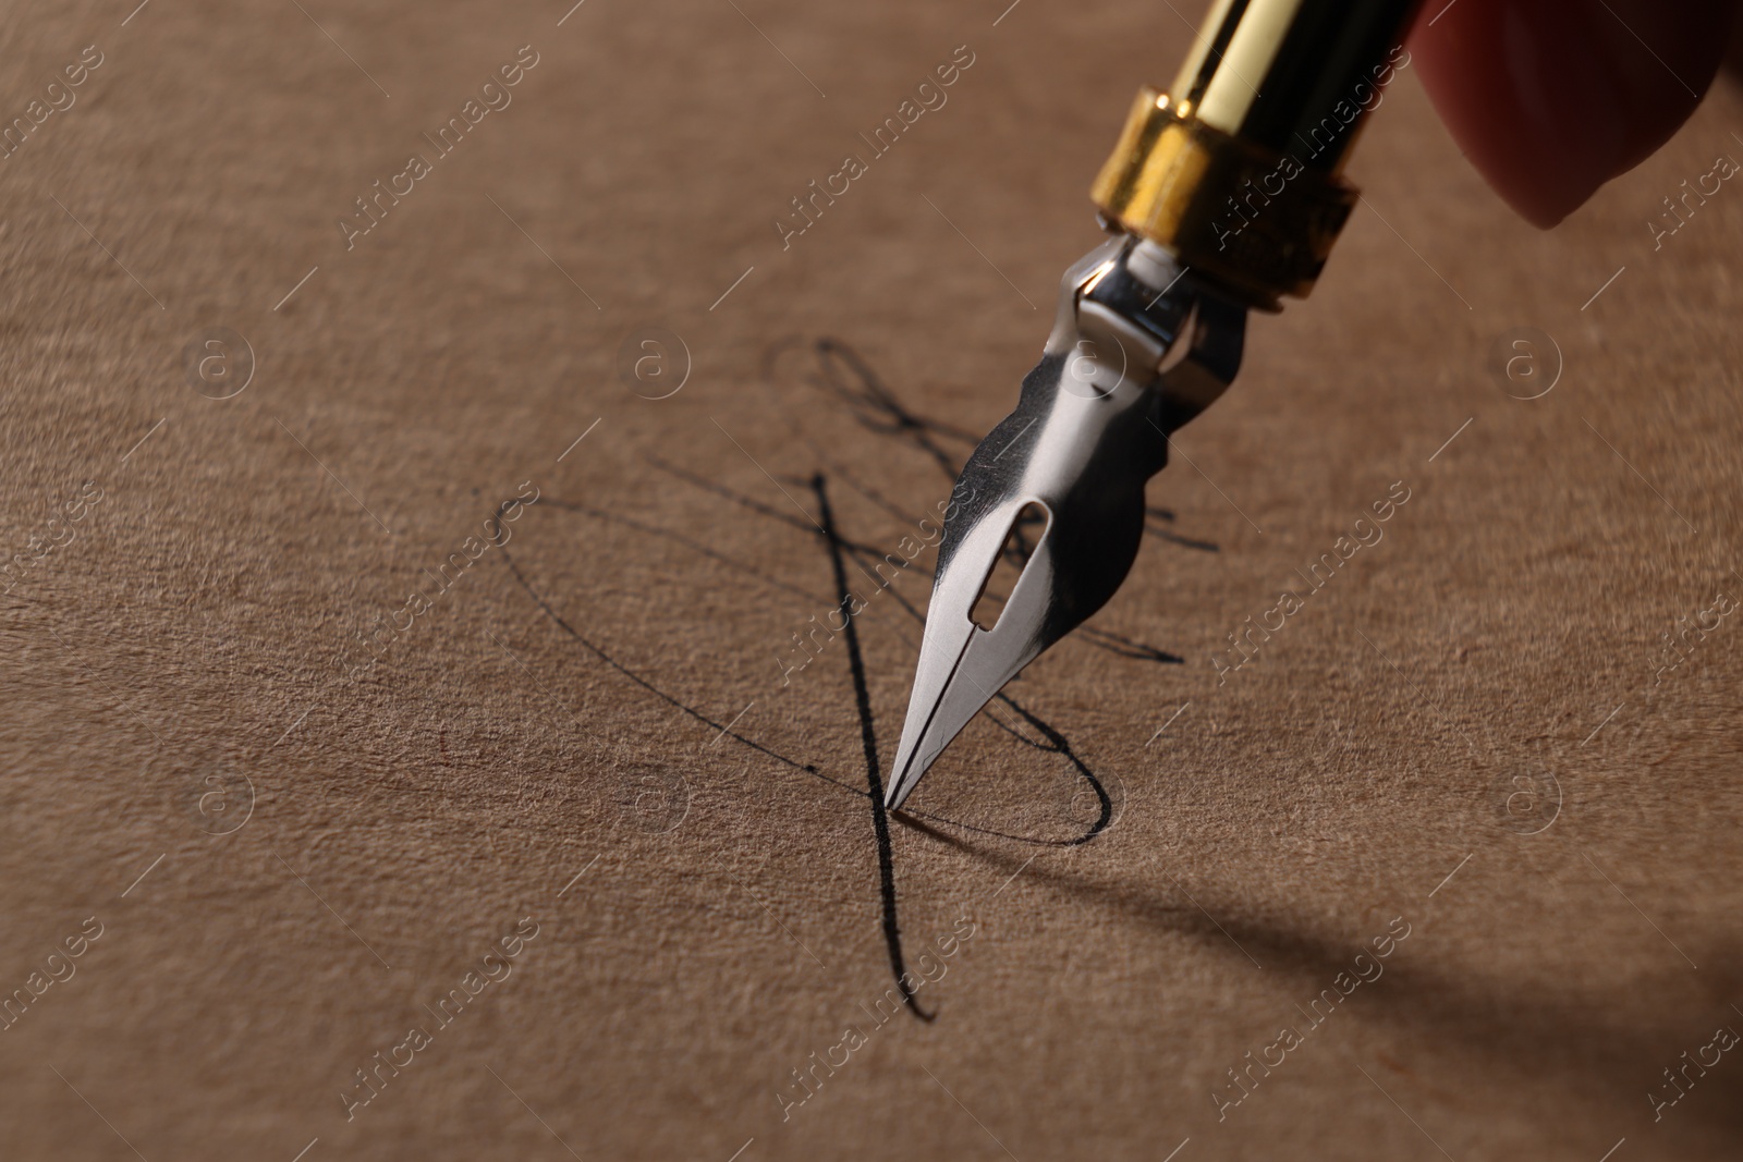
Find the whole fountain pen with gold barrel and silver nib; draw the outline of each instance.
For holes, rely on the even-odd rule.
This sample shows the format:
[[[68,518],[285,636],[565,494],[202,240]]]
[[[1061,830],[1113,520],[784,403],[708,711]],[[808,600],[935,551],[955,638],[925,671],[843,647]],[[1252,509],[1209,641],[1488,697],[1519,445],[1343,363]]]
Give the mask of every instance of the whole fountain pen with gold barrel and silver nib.
[[[1126,580],[1143,488],[1234,380],[1246,312],[1319,277],[1358,199],[1344,162],[1408,63],[1415,7],[1215,0],[1173,89],[1138,91],[1089,192],[1110,237],[1065,272],[1041,364],[952,493],[891,810]],[[1000,559],[1020,568],[1002,605]]]

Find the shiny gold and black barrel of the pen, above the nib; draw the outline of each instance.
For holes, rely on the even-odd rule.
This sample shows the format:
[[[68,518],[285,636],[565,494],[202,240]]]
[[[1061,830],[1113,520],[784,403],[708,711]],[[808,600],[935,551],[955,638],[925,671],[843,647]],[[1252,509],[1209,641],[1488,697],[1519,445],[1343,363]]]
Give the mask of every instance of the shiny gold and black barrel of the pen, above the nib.
[[[1356,204],[1344,162],[1415,9],[1217,0],[1173,91],[1138,92],[1091,199],[1234,301],[1306,298]]]

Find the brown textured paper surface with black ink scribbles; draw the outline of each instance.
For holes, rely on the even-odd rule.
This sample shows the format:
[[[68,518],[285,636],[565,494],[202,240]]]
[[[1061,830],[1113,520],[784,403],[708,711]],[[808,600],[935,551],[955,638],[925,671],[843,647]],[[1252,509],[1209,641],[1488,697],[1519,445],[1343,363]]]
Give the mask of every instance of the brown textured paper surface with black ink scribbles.
[[[1403,70],[887,894],[885,556],[1190,37],[1002,7],[7,12],[0,1155],[1734,1157],[1736,89],[1541,235]]]

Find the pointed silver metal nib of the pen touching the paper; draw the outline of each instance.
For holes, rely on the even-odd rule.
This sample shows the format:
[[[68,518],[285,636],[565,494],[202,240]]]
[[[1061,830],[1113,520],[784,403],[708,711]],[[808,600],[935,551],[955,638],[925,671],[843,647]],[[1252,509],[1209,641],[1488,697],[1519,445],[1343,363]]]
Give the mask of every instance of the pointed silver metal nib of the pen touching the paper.
[[[1152,242],[1112,239],[1065,272],[1041,364],[952,493],[885,807],[901,807],[999,688],[1126,580],[1168,434],[1234,378],[1245,328],[1243,307]],[[1013,526],[1037,509],[1039,544],[981,629],[974,606]]]

